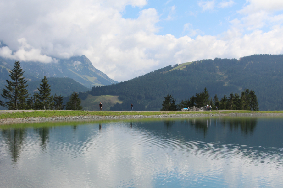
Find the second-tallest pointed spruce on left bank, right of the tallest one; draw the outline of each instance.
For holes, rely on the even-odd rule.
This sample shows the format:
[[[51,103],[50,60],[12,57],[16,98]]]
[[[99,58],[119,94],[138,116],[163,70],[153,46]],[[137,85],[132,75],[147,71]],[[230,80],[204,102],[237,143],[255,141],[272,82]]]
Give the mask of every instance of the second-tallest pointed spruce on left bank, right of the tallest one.
[[[37,88],[39,93],[36,93],[36,109],[40,109],[40,110],[47,110],[51,108],[52,105],[52,99],[53,99],[53,95],[50,96],[50,86],[47,83],[47,77],[44,76],[42,79],[42,84],[40,85],[40,88]]]

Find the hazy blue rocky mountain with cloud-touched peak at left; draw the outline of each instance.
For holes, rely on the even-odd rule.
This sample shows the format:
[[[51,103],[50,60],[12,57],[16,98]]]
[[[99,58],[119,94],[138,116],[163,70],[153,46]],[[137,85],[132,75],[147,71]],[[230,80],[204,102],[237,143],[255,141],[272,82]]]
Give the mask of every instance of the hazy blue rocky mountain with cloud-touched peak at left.
[[[6,70],[11,70],[14,62],[15,60],[0,57],[0,67]],[[20,62],[20,65],[25,71],[25,78],[31,81],[41,80],[44,76],[47,78],[72,78],[88,88],[118,83],[96,69],[84,55],[69,59],[57,59],[57,62],[51,63],[23,61]]]

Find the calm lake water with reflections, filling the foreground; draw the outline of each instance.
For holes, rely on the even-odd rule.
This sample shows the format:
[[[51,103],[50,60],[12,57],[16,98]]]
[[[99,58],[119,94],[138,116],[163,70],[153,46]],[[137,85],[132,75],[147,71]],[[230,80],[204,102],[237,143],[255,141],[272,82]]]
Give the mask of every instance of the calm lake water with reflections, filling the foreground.
[[[0,187],[283,187],[283,118],[0,125]]]

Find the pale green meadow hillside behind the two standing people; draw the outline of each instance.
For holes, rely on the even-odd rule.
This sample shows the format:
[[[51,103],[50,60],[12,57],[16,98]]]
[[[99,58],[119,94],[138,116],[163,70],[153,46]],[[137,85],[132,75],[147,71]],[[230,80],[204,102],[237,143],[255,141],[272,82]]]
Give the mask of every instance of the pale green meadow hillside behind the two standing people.
[[[99,110],[99,103],[102,103],[102,110],[108,111],[110,107],[113,107],[116,103],[122,103],[119,101],[118,96],[103,95],[92,96],[88,95],[85,100],[81,101],[83,110]]]

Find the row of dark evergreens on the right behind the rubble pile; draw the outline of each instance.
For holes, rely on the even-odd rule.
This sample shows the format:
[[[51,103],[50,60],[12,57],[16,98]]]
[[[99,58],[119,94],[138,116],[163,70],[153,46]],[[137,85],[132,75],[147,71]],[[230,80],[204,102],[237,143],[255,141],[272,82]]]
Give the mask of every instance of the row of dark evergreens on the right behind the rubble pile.
[[[160,110],[176,111],[181,110],[182,108],[193,106],[200,108],[207,105],[211,105],[213,110],[259,110],[258,98],[252,89],[245,89],[242,91],[241,96],[238,93],[233,94],[232,92],[228,98],[224,95],[220,101],[216,94],[213,99],[210,98],[206,87],[203,92],[196,93],[196,96],[182,100],[181,103],[177,105],[175,104],[176,100],[174,100],[172,95],[167,94],[164,99],[165,100],[163,101],[162,108]]]

